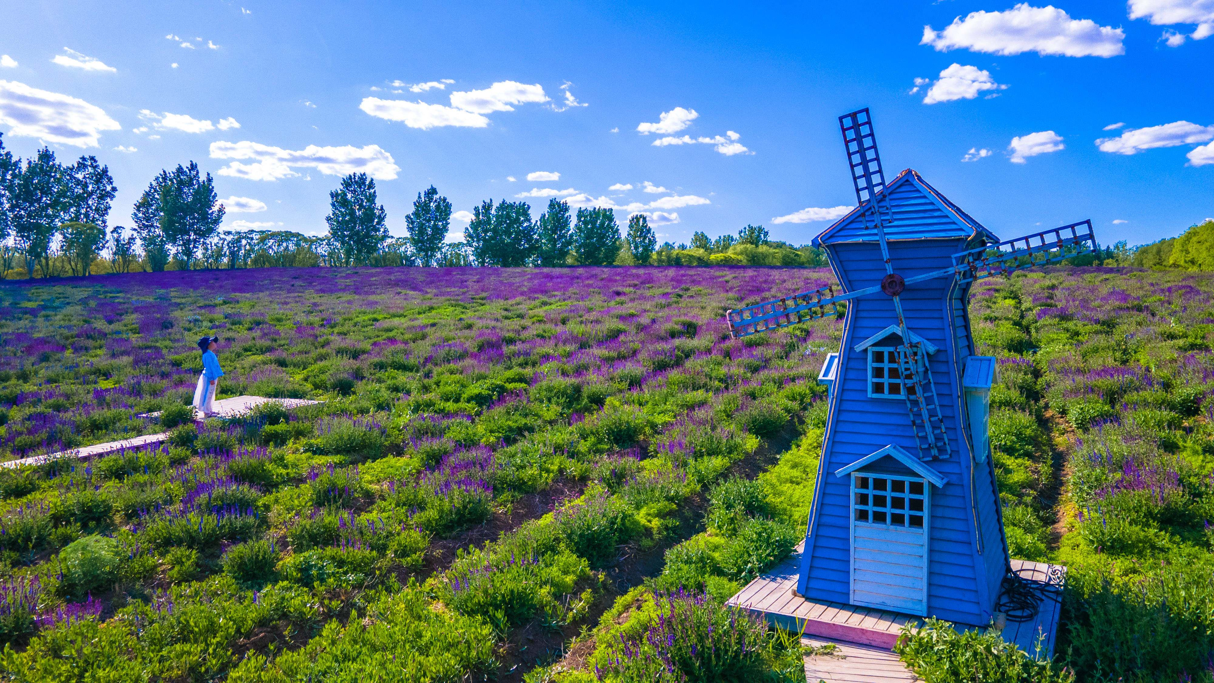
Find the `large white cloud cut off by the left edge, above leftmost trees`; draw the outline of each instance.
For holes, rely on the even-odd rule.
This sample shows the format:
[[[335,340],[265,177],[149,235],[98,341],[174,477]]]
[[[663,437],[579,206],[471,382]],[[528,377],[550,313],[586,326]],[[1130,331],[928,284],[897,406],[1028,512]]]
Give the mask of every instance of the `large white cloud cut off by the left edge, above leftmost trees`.
[[[101,107],[12,80],[0,80],[0,124],[16,137],[75,147],[97,147],[102,131],[123,129]]]

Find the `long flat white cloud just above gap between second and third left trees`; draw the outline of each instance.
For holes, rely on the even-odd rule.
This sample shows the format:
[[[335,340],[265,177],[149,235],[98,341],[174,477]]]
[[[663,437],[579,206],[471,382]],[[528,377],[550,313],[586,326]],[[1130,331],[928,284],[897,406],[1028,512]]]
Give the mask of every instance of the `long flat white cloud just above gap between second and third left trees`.
[[[220,175],[248,180],[278,180],[299,175],[293,168],[317,169],[325,175],[365,173],[376,180],[393,180],[401,170],[392,156],[379,145],[367,145],[361,149],[351,145],[308,145],[304,149],[291,151],[249,141],[211,142],[210,152],[212,159],[253,159],[251,164],[231,162],[219,170]]]

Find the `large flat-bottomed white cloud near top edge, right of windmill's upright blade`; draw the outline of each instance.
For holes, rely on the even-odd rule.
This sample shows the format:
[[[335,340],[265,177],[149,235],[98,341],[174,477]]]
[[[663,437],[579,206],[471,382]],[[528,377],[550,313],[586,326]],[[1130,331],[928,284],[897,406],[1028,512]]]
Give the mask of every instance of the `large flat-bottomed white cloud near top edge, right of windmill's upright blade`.
[[[943,30],[923,27],[919,45],[940,52],[966,49],[993,55],[1062,55],[1066,57],[1113,57],[1124,55],[1125,32],[1102,27],[1091,19],[1072,19],[1051,5],[1033,7],[1021,2],[1003,12],[970,12],[957,17]]]

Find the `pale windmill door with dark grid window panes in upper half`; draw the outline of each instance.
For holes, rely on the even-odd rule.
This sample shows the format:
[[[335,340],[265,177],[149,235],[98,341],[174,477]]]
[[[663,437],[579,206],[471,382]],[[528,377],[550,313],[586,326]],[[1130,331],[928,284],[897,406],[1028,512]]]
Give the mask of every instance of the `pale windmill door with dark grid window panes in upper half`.
[[[930,486],[855,472],[851,489],[851,604],[926,616]]]

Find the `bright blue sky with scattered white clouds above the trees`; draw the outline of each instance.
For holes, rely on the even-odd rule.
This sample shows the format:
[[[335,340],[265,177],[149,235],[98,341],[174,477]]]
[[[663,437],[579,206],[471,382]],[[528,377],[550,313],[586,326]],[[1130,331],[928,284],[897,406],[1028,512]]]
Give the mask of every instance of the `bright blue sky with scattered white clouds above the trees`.
[[[1214,0],[45,0],[0,22],[0,131],[108,164],[112,225],[193,159],[229,228],[322,233],[365,170],[393,235],[433,184],[800,244],[855,204],[836,117],[870,107],[887,177],[1003,238],[1091,218],[1139,244],[1214,216],[1210,34]]]

